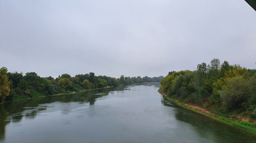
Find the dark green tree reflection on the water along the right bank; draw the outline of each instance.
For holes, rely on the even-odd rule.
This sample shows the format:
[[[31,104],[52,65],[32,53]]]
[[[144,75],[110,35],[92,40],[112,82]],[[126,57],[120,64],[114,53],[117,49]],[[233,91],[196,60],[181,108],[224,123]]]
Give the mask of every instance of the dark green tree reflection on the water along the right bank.
[[[225,123],[213,120],[207,116],[178,107],[170,101],[163,100],[162,104],[175,108],[175,118],[192,125],[198,136],[212,142],[256,142],[256,137],[250,136]],[[179,123],[179,122],[177,122]],[[184,123],[180,123],[181,126]]]

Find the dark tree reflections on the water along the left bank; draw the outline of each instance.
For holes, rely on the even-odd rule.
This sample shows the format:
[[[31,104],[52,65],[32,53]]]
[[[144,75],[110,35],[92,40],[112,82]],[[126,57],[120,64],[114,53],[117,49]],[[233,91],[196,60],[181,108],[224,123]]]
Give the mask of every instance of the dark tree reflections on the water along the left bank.
[[[112,91],[123,90],[125,90],[124,87],[107,88],[87,92],[79,92],[77,94],[49,96],[2,104],[0,105],[0,141],[5,139],[5,127],[7,124],[10,122],[18,123],[23,117],[29,119],[35,118],[38,113],[47,109],[48,106],[44,106],[44,104],[54,102],[89,102],[90,105],[93,105],[96,101],[96,98],[108,95],[108,93]]]

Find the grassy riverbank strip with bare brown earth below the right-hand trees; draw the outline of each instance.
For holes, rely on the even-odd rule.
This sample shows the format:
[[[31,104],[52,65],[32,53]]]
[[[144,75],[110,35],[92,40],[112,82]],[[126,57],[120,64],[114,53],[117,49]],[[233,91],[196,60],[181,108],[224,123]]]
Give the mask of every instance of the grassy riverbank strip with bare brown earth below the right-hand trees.
[[[160,87],[158,92],[160,94],[162,94],[163,97],[166,100],[171,101],[172,103],[176,104],[177,106],[180,106],[182,108],[186,108],[186,109],[192,110],[194,112],[197,112],[197,113],[200,113],[202,115],[208,116],[208,117],[210,117],[212,119],[215,119],[217,121],[220,121],[220,122],[232,125],[233,127],[242,129],[242,130],[247,131],[248,133],[251,133],[254,136],[256,136],[256,124],[253,124],[253,123],[250,123],[250,122],[245,122],[245,121],[232,120],[231,118],[227,118],[227,117],[224,117],[224,116],[221,116],[221,115],[218,115],[218,114],[214,114],[211,111],[209,111],[209,110],[207,110],[205,108],[202,108],[200,106],[196,106],[196,105],[188,104],[188,103],[182,103],[179,100],[175,100],[175,99],[173,99],[171,97],[168,97],[166,95],[166,93],[163,92],[162,89],[163,88]]]

